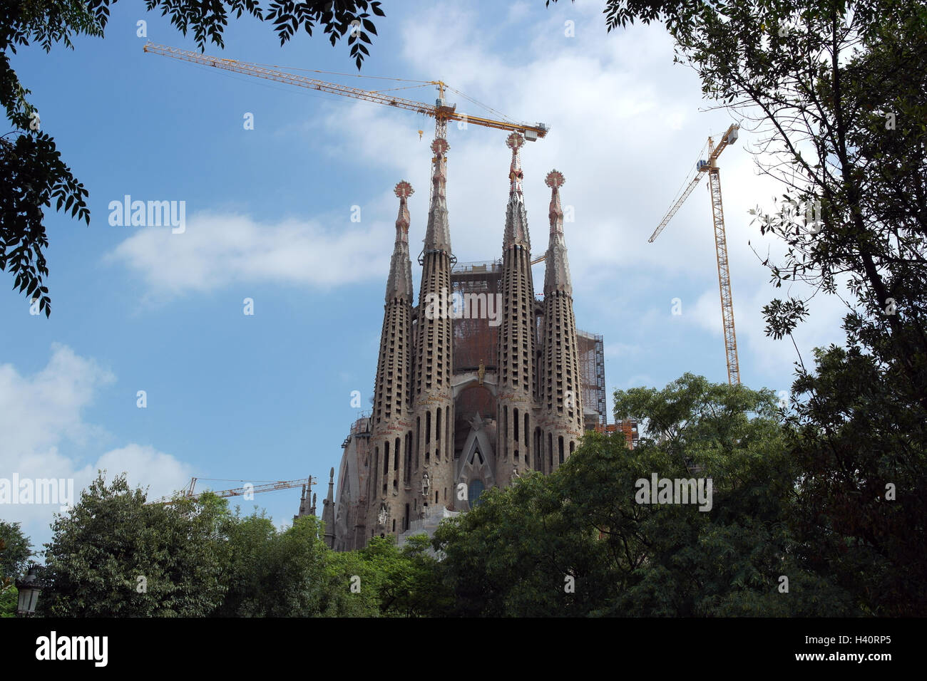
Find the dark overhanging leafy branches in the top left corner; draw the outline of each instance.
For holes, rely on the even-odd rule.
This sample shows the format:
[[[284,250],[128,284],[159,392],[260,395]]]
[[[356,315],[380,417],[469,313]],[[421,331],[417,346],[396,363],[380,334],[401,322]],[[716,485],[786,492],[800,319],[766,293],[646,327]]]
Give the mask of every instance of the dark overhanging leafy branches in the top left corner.
[[[51,315],[51,299],[44,277],[48,267],[44,249],[48,236],[44,208],[62,207],[71,217],[90,224],[87,190],[61,160],[55,140],[41,130],[38,111],[26,98],[30,94],[9,63],[9,54],[37,43],[45,52],[54,44],[73,49],[76,35],[103,37],[109,7],[117,0],[13,0],[0,6],[0,104],[6,108],[11,132],[0,136],[0,271],[14,275],[14,288]],[[368,9],[383,17],[376,0],[271,0],[267,12],[259,0],[146,0],[148,11],[161,10],[184,35],[193,32],[197,47],[207,41],[224,47],[222,32],[229,15],[240,19],[247,13],[260,21],[272,21],[273,31],[286,44],[302,29],[309,35],[323,29],[334,46],[348,35],[350,57],[358,69],[368,56],[365,44],[376,28]],[[9,54],[7,54],[9,53]],[[11,138],[11,139],[7,139]]]

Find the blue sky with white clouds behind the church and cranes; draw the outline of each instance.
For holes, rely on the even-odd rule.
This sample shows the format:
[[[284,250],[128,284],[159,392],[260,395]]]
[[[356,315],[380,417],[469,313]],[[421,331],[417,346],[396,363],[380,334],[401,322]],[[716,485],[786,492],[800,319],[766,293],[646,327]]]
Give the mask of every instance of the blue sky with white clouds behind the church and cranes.
[[[662,27],[607,34],[602,7],[387,2],[362,73],[440,79],[516,120],[552,127],[522,157],[533,250],[547,246],[543,178],[556,168],[566,177],[563,203],[576,215],[565,224],[576,318],[605,337],[609,394],[663,386],[683,372],[723,382],[705,186],[654,244],[647,238],[705,138],[732,119],[709,110],[692,69],[672,63]],[[424,237],[433,121],[146,55],[140,19],[152,42],[195,49],[166,19],[123,2],[105,39],[13,57],[43,129],[90,191],[92,221],[46,213],[50,320],[0,288],[0,477],[73,477],[80,489],[107,468],[160,496],[192,475],[312,474],[321,480],[321,511],[328,470],[359,411],[351,391],[369,407],[400,180],[416,190],[413,251]],[[232,20],[225,42],[224,57],[356,73],[347,44],[300,34],[280,47],[272,26],[252,19]],[[400,95],[430,102],[435,92]],[[243,125],[247,113],[253,130]],[[451,124],[448,204],[461,262],[500,257],[504,138]],[[748,240],[764,254],[781,248],[760,237],[746,211],[770,207],[781,192],[757,175],[748,153],[755,143],[743,130],[725,151],[721,184],[742,380],[778,392],[791,384],[794,348],[763,334],[759,310],[782,292],[768,284]],[[108,204],[124,195],[184,201],[185,232],[111,226]],[[360,221],[350,219],[355,206]],[[417,267],[413,274],[417,291]],[[542,282],[539,265],[536,288]],[[247,297],[253,316],[243,313]],[[796,334],[803,353],[842,337],[837,302],[816,298],[811,308],[812,322]],[[136,407],[139,390],[146,409]],[[241,503],[259,504],[282,524],[298,497],[293,489]],[[22,522],[39,545],[53,511],[7,506],[0,517]]]

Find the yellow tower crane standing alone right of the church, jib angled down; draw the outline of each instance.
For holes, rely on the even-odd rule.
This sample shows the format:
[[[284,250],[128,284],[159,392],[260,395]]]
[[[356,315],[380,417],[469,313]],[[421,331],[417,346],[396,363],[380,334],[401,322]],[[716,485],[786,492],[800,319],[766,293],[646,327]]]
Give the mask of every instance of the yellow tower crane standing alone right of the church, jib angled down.
[[[737,334],[734,333],[734,303],[730,296],[730,268],[728,267],[728,240],[724,233],[724,210],[721,208],[721,179],[720,169],[717,167],[717,158],[728,145],[737,141],[741,126],[736,123],[730,125],[721,136],[721,142],[715,146],[714,140],[708,138],[708,159],[700,160],[695,165],[695,174],[686,186],[679,200],[669,208],[667,215],[647,240],[653,244],[654,239],[663,232],[667,222],[676,215],[682,202],[692,194],[695,185],[702,181],[704,174],[708,175],[708,194],[711,196],[711,215],[715,222],[715,253],[717,255],[717,284],[721,293],[721,322],[724,326],[724,353],[728,359],[728,383],[739,385],[741,370],[737,361]]]

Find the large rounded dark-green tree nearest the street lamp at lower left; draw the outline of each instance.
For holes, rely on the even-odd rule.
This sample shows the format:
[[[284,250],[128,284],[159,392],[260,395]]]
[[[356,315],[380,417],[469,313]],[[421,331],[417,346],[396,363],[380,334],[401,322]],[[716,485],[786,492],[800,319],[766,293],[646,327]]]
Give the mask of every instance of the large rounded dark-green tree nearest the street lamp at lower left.
[[[223,499],[146,504],[104,473],[56,514],[39,609],[56,617],[203,616],[221,602]]]

